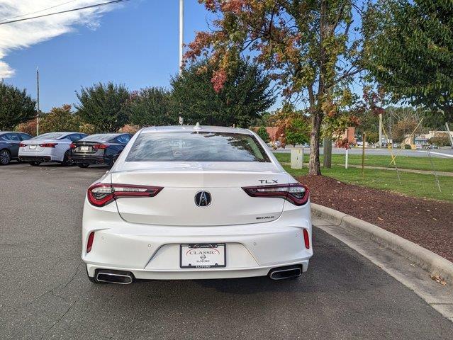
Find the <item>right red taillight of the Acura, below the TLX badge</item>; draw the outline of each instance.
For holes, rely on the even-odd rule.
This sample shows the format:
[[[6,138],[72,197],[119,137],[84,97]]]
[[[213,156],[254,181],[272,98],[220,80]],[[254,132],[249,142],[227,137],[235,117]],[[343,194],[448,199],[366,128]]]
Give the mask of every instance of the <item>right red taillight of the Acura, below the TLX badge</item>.
[[[289,183],[274,186],[246,186],[242,188],[248,196],[283,198],[293,205],[304,205],[308,201],[310,192],[301,183]]]

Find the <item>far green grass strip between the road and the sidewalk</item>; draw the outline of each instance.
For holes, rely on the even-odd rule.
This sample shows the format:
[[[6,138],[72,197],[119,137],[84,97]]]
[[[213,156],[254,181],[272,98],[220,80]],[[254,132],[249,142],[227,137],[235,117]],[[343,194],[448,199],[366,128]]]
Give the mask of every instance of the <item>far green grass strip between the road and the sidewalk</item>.
[[[290,154],[274,153],[279,162],[291,162]],[[323,155],[320,155],[321,163]],[[304,164],[308,164],[308,154],[303,157]],[[368,166],[388,166],[391,162],[390,156],[380,156],[369,154],[365,155],[365,165]],[[349,154],[348,163],[350,165],[362,165],[361,154]],[[436,171],[453,172],[453,159],[443,159],[432,157],[432,163]],[[345,164],[345,154],[332,154],[332,164]],[[401,169],[415,169],[432,171],[430,159],[428,157],[408,157],[398,155],[396,166]],[[393,164],[391,167],[394,167]]]

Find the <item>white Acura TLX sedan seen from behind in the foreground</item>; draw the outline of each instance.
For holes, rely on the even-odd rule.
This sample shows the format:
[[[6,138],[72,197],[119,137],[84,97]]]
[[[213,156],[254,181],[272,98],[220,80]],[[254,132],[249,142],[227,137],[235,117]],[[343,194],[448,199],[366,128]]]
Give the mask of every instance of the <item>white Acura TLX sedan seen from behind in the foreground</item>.
[[[308,188],[250,130],[144,128],[86,193],[96,283],[296,278],[313,255]]]

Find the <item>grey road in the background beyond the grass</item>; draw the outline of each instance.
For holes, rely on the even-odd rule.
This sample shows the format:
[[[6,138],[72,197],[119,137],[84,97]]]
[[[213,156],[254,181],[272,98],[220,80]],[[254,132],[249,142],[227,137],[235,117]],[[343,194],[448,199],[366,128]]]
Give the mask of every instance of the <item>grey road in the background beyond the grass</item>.
[[[308,154],[310,152],[310,148],[306,147],[304,149],[305,153]],[[399,156],[409,156],[409,157],[428,157],[429,154],[426,149],[423,150],[409,150],[409,149],[393,149],[393,154],[398,154]],[[453,160],[453,149],[452,148],[441,148],[441,149],[430,149],[430,154],[432,157],[438,158],[446,158]],[[286,147],[285,149],[276,149],[274,152],[283,152],[289,153],[291,152],[290,147]],[[323,154],[323,148],[320,148],[320,154]],[[373,149],[367,148],[365,149],[366,154],[377,154],[381,156],[388,156],[390,157],[390,151],[388,149]],[[338,147],[332,148],[332,154],[345,154],[345,149],[340,149]],[[349,149],[349,154],[362,154],[362,149],[359,147],[353,147]]]

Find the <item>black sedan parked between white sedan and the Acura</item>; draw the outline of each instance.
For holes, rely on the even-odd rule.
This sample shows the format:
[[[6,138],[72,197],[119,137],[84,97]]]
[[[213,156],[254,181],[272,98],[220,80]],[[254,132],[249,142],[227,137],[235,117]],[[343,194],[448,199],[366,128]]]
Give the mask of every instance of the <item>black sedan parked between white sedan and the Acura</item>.
[[[81,168],[89,164],[112,166],[114,157],[121,154],[132,135],[128,133],[99,133],[71,144],[71,160]]]

